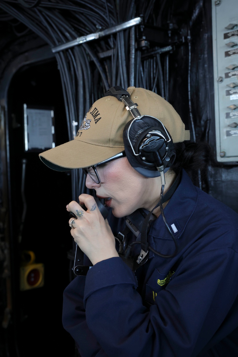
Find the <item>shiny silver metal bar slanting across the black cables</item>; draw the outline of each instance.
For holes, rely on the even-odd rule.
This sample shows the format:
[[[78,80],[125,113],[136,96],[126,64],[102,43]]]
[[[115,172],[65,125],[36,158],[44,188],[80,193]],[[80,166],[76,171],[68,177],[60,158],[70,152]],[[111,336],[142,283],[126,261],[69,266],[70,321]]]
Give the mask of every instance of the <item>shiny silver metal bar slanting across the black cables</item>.
[[[142,17],[135,17],[135,19],[122,22],[121,24],[113,26],[113,27],[109,27],[108,29],[105,29],[105,30],[102,30],[99,32],[95,32],[94,34],[77,37],[75,40],[65,42],[64,44],[61,44],[59,46],[52,47],[52,52],[56,53],[56,52],[63,51],[68,48],[80,45],[80,44],[88,42],[88,41],[97,40],[100,37],[115,34],[115,32],[119,32],[119,31],[128,29],[132,26],[136,26],[136,25],[140,24],[141,22],[142,22]]]

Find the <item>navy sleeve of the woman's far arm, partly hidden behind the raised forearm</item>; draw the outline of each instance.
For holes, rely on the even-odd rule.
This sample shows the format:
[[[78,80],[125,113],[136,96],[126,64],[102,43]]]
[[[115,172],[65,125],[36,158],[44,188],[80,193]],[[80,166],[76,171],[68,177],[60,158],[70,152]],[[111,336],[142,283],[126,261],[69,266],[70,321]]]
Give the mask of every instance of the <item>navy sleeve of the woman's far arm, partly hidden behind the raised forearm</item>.
[[[107,357],[89,330],[83,306],[85,276],[77,276],[66,287],[63,299],[62,323],[74,338],[82,357]]]

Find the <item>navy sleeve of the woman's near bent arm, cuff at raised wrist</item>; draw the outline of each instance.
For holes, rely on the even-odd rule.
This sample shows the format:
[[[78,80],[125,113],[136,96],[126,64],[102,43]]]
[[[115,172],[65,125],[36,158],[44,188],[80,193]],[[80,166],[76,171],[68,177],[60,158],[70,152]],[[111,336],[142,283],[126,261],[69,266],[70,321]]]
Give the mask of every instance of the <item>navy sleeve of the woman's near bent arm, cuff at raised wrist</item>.
[[[191,255],[150,309],[119,257],[90,269],[84,293],[87,326],[109,357],[191,357],[207,344],[237,296],[238,257],[226,247]]]

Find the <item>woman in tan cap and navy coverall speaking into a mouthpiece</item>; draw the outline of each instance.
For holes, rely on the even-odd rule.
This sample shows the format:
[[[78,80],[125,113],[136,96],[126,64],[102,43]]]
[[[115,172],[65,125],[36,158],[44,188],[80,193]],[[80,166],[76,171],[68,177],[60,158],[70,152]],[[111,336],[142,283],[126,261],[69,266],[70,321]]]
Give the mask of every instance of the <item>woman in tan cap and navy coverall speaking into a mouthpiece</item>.
[[[71,235],[85,253],[84,264],[92,267],[65,289],[63,325],[82,357],[237,356],[237,215],[192,184],[183,167],[191,162],[196,167],[196,157],[201,163],[209,154],[199,147],[188,152],[183,141],[189,134],[173,107],[148,90],[127,91],[141,115],[161,121],[177,143],[176,159],[173,163],[170,155],[170,169],[164,170],[169,199],[163,208],[171,232],[156,207],[162,185],[158,164],[144,170],[124,154],[129,110],[115,96],[99,99],[85,117],[90,129],[81,128],[75,140],[40,155],[56,170],[84,168],[86,186],[109,207],[105,221],[90,195],[67,205],[77,217],[69,221]],[[115,236],[126,226],[123,217],[141,208],[146,213],[155,208],[156,219],[146,235],[146,257],[132,268],[118,254]],[[140,240],[142,233],[128,234],[134,262],[143,249],[131,243]]]

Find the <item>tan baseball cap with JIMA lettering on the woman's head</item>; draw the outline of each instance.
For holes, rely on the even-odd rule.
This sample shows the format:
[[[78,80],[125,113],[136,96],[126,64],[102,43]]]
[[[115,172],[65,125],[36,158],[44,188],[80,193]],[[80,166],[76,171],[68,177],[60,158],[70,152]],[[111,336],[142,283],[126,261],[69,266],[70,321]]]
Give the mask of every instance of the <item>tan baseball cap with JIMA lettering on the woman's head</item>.
[[[159,119],[173,142],[190,139],[185,126],[171,104],[147,89],[128,87],[131,100],[138,104],[141,115]],[[123,102],[113,96],[98,99],[85,115],[74,138],[65,144],[39,154],[51,169],[68,171],[109,159],[124,150],[123,129],[133,119]]]

